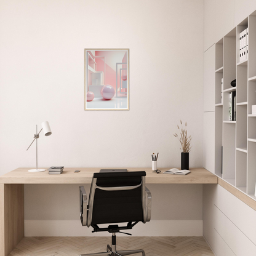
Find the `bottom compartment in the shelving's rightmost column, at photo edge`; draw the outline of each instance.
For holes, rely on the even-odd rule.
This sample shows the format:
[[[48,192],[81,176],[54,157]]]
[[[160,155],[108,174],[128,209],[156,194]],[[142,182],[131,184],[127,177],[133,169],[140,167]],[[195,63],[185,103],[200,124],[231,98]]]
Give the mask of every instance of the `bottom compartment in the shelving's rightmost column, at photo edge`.
[[[247,193],[255,193],[256,183],[256,143],[248,142]]]

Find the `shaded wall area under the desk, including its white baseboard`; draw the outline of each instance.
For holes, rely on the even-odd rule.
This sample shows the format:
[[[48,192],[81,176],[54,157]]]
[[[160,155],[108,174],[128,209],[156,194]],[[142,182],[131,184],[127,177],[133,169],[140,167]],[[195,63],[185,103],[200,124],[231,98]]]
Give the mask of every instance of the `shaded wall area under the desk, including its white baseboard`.
[[[202,236],[202,185],[146,186],[151,221],[135,226],[134,236]],[[84,187],[89,194],[90,185]],[[79,220],[79,185],[25,186],[25,236],[94,236],[91,231]]]

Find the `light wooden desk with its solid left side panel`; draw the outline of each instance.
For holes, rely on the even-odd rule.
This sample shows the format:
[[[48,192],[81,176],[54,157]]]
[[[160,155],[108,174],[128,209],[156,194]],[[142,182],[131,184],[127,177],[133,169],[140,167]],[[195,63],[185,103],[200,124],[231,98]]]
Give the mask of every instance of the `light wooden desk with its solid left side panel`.
[[[0,255],[7,256],[24,237],[24,184],[90,184],[94,172],[105,168],[65,168],[61,175],[28,172],[18,168],[0,177]],[[47,169],[47,168],[46,168]],[[168,168],[162,168],[164,172]],[[81,172],[74,173],[74,170]],[[188,175],[156,174],[150,168],[129,168],[146,171],[146,183],[153,184],[217,184],[218,178],[206,169],[190,169]]]

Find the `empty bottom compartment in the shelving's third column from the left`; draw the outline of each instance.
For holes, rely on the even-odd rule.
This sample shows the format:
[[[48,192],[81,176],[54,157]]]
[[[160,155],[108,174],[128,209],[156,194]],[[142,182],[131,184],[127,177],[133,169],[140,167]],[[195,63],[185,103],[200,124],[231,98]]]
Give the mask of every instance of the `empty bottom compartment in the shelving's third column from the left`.
[[[236,151],[236,186],[247,187],[247,153],[238,150]]]

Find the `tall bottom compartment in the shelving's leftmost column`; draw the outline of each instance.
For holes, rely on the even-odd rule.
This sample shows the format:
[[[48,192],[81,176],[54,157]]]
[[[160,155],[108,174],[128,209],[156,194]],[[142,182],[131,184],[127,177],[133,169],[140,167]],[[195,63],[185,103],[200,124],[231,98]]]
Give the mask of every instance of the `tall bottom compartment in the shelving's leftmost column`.
[[[222,177],[223,106],[215,107],[215,174]]]

